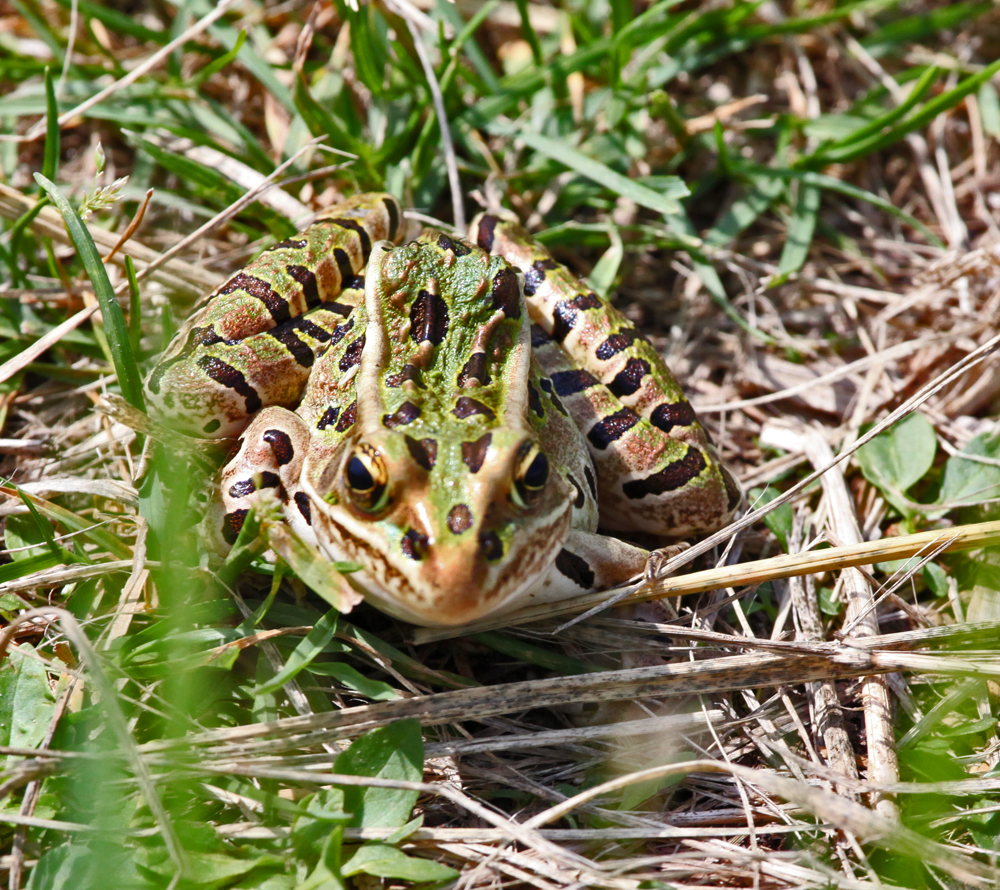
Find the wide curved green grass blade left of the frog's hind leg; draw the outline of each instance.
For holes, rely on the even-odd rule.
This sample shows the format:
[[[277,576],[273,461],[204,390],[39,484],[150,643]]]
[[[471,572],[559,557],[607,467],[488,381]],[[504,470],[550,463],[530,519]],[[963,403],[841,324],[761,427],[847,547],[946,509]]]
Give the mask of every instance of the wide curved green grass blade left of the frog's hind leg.
[[[125,315],[122,312],[122,307],[118,305],[118,299],[115,297],[114,288],[108,279],[104,263],[101,262],[101,255],[97,252],[94,239],[90,237],[90,232],[87,231],[80,215],[72,208],[69,201],[66,200],[66,196],[59,191],[55,183],[40,173],[35,174],[35,181],[45,189],[49,198],[52,199],[52,203],[62,214],[66,229],[80,254],[80,261],[90,276],[90,282],[94,286],[94,294],[97,296],[101,313],[104,316],[108,346],[111,349],[115,371],[118,373],[122,395],[133,408],[145,411],[146,403],[142,397],[142,377],[139,374],[135,356],[132,354],[128,328],[125,326]]]

